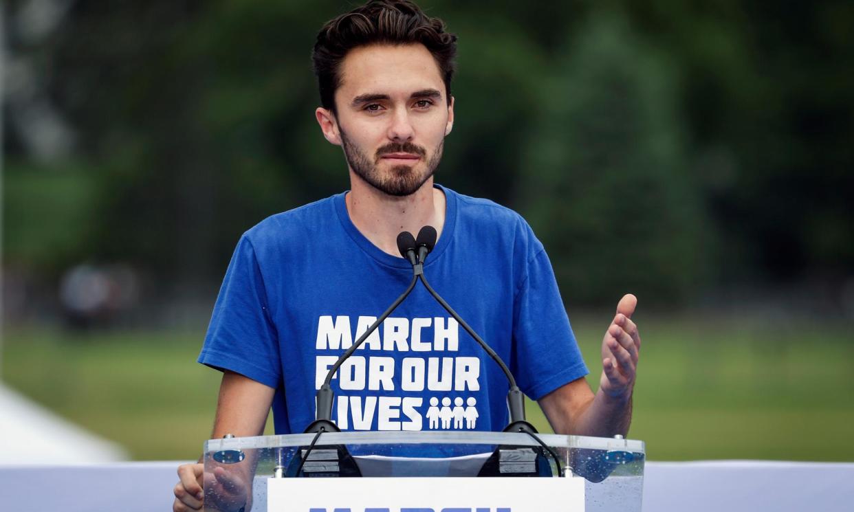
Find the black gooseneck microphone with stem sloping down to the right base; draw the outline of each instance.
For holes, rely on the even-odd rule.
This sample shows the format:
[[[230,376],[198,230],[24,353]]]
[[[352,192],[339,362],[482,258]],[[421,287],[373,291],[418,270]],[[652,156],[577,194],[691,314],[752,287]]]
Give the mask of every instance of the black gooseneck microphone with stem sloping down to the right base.
[[[492,347],[488,346],[486,342],[477,335],[474,329],[471,329],[469,324],[457,314],[456,311],[453,311],[453,308],[448,305],[444,299],[442,299],[442,296],[436,293],[436,290],[430,286],[430,283],[427,282],[427,278],[424,277],[424,260],[427,259],[427,254],[429,254],[430,251],[433,250],[433,247],[436,246],[436,229],[433,226],[424,226],[421,228],[421,230],[418,231],[418,239],[415,241],[415,245],[418,247],[418,266],[420,266],[420,268],[415,270],[415,275],[418,276],[422,283],[424,283],[424,288],[427,288],[430,295],[432,295],[433,298],[436,299],[443,308],[445,308],[445,311],[450,313],[457,323],[463,326],[465,332],[469,333],[469,335],[471,335],[471,337],[474,338],[481,347],[483,347],[483,350],[489,354],[489,357],[494,359],[495,363],[497,363],[504,372],[507,381],[510,382],[510,393],[507,393],[507,405],[510,409],[510,423],[506,428],[504,428],[504,432],[536,433],[534,426],[525,421],[524,394],[516,385],[516,379],[513,378],[512,373],[510,373],[510,369],[507,369],[507,365],[504,364],[504,361],[501,360]]]

